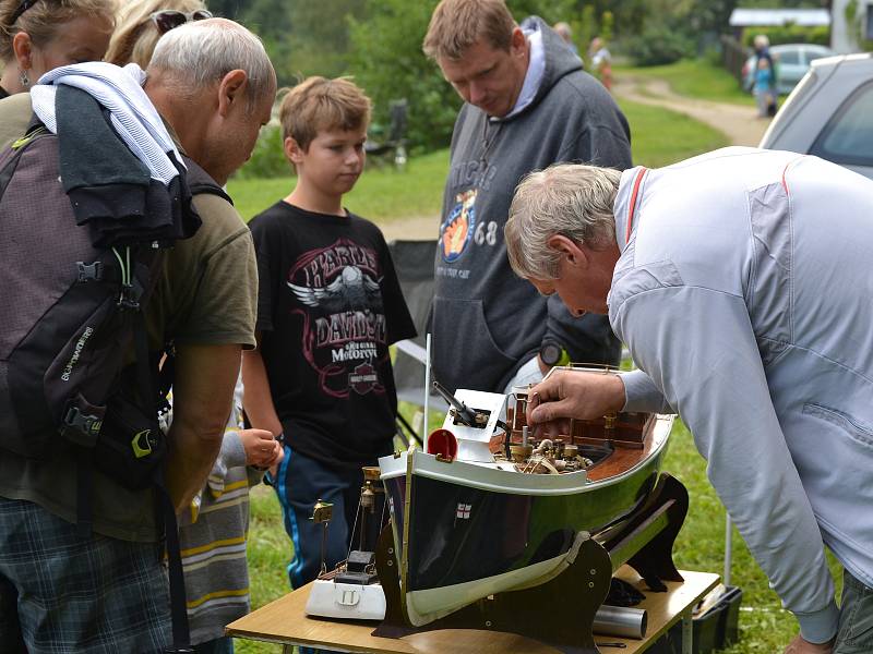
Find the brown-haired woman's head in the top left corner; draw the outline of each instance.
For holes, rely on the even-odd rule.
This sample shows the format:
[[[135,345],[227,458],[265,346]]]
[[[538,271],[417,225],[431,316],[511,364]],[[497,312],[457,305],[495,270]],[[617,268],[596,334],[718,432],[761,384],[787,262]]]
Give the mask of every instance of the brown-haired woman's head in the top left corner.
[[[0,0],[0,98],[52,69],[103,59],[115,13],[113,0]]]

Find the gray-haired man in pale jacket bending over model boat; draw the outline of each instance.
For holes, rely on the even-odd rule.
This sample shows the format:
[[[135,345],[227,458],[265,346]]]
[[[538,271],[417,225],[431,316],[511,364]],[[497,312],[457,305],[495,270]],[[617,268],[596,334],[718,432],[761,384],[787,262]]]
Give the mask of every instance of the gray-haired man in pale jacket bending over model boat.
[[[608,313],[639,366],[553,374],[528,422],[680,413],[800,623],[786,654],[873,652],[871,215],[861,175],[734,147],[531,173],[505,228],[515,271],[576,315]],[[845,567],[840,609],[825,545]]]

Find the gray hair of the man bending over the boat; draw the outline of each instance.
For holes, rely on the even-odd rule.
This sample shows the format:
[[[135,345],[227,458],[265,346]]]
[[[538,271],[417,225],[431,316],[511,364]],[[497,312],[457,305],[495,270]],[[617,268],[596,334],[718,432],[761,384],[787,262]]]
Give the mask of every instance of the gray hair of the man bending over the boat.
[[[561,234],[593,250],[615,239],[612,210],[621,172],[611,168],[557,164],[527,174],[510,205],[506,253],[525,279],[558,279],[561,254],[549,239]]]

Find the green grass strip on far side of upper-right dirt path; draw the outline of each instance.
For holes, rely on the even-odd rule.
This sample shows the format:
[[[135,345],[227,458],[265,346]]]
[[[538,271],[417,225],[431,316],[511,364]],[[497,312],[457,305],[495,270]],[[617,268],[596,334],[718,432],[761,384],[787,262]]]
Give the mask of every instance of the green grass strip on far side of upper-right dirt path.
[[[723,68],[713,65],[705,59],[683,59],[669,65],[655,66],[619,66],[615,77],[633,75],[637,77],[657,77],[668,82],[674,93],[718,102],[754,106],[751,94],[745,93],[737,80]]]

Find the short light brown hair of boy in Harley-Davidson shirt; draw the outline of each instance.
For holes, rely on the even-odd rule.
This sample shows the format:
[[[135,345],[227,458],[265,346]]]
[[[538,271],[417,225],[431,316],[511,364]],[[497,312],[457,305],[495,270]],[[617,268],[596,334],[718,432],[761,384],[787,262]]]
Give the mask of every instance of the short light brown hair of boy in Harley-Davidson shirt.
[[[306,152],[319,131],[366,130],[370,98],[350,77],[307,77],[282,99],[279,122],[283,141],[290,136]]]

